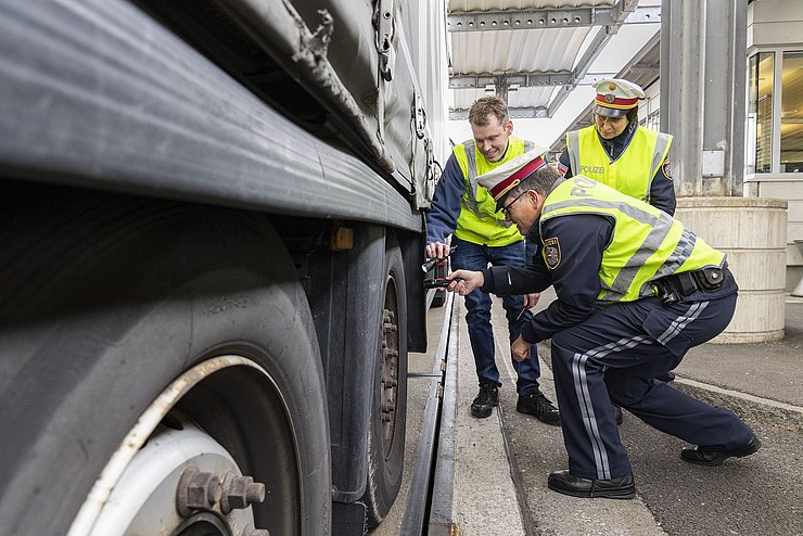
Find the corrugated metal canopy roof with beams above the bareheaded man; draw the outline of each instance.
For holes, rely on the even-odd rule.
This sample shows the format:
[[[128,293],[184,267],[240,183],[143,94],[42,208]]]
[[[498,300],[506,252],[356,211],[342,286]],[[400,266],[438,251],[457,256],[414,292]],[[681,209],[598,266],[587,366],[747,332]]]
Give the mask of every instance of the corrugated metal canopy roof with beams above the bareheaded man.
[[[511,117],[551,117],[602,47],[627,22],[660,21],[638,0],[450,0],[450,119],[485,93],[507,99]],[[614,73],[609,74],[609,76]]]

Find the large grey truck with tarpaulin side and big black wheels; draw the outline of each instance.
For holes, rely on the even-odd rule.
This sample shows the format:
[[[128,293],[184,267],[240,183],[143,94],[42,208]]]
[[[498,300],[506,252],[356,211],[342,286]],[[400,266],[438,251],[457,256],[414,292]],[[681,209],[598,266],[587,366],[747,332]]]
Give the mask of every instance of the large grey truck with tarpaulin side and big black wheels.
[[[0,535],[382,522],[446,77],[439,1],[0,0]]]

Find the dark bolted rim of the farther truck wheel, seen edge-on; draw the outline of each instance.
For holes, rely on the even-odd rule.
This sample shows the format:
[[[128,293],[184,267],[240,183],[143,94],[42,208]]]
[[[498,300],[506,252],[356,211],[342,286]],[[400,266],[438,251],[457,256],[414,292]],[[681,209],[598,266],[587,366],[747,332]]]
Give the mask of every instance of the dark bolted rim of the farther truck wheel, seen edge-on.
[[[368,482],[362,498],[369,526],[379,525],[401,487],[407,420],[407,299],[401,253],[395,241],[385,252],[381,344],[368,438]]]

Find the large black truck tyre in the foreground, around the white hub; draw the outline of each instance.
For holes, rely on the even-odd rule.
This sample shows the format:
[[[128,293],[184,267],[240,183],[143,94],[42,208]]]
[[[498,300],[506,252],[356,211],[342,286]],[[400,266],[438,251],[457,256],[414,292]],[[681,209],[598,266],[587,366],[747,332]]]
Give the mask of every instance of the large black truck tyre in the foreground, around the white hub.
[[[320,356],[269,220],[4,187],[0,535],[75,528],[95,480],[176,379],[188,379],[184,391],[161,408],[160,426],[180,411],[268,486],[256,526],[329,534]]]

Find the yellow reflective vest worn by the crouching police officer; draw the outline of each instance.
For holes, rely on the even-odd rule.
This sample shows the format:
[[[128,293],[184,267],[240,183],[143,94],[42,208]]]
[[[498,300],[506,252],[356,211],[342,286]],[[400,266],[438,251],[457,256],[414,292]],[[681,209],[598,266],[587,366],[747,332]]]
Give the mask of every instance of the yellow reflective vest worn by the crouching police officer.
[[[721,267],[725,259],[724,253],[664,212],[582,175],[558,184],[547,196],[540,216],[541,240],[550,238],[543,233],[545,221],[571,214],[599,214],[614,220],[599,268],[602,290],[597,301],[602,304],[653,296],[657,279]]]

